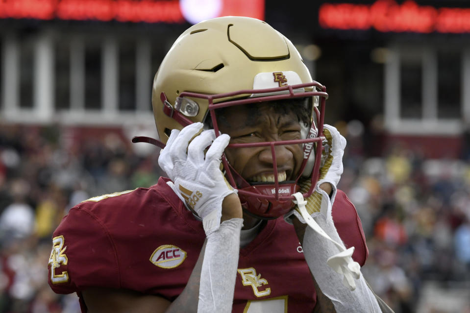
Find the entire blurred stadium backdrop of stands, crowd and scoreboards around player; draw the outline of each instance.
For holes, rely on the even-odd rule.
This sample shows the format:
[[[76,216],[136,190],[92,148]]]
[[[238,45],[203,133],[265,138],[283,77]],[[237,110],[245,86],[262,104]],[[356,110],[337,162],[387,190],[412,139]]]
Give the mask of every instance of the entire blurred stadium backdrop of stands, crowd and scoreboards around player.
[[[463,0],[0,0],[0,312],[74,312],[75,298],[44,291],[44,277],[25,288],[32,278],[22,280],[8,262],[45,267],[48,232],[79,192],[95,196],[128,188],[126,177],[140,177],[130,187],[158,177],[155,148],[130,144],[135,135],[156,136],[153,75],[188,21],[224,15],[271,24],[327,86],[325,121],[348,139],[340,188],[371,238],[365,273],[374,289],[396,312],[469,312],[470,255],[459,249],[468,242],[460,234],[470,233]],[[72,161],[85,183],[82,174],[65,177]],[[38,183],[44,168],[50,177]],[[138,175],[146,170],[154,175]],[[64,183],[75,178],[78,187]],[[11,238],[5,233],[14,227],[2,216],[18,194],[35,226]],[[44,198],[55,208],[49,217]],[[5,243],[17,240],[23,248]]]

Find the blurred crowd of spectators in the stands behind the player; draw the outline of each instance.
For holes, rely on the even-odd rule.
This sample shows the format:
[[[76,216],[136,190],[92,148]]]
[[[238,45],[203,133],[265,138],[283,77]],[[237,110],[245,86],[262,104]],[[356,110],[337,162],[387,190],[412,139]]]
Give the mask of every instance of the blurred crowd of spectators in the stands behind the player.
[[[366,279],[396,313],[454,312],[420,299],[430,281],[469,289],[470,153],[426,160],[396,144],[371,157],[359,122],[337,126],[348,140],[339,188],[368,239]],[[74,294],[49,289],[51,234],[80,201],[154,184],[163,173],[152,151],[116,132],[76,141],[57,125],[0,125],[0,313],[80,312]],[[470,312],[469,299],[457,310]]]

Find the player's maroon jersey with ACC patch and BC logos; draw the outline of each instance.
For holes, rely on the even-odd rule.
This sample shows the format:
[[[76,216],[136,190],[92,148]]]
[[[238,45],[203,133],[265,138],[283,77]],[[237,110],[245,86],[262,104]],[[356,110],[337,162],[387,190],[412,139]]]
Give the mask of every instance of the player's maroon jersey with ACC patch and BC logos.
[[[72,208],[53,234],[49,285],[57,293],[89,287],[131,289],[173,301],[184,289],[205,234],[160,178],[151,188],[106,194]],[[354,206],[338,191],[333,219],[353,258],[368,256]],[[86,307],[82,304],[82,312]],[[240,249],[233,312],[309,312],[315,288],[294,227],[269,220]]]

